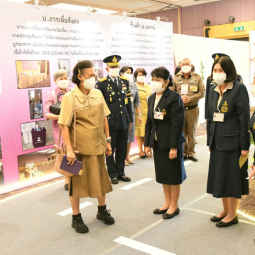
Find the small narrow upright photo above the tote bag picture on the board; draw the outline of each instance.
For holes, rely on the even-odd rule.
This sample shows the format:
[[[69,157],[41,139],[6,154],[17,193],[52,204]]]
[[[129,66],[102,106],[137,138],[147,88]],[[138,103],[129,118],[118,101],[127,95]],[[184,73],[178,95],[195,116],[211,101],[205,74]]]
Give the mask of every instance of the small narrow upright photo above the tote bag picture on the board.
[[[28,91],[30,119],[43,118],[42,90],[35,89]]]

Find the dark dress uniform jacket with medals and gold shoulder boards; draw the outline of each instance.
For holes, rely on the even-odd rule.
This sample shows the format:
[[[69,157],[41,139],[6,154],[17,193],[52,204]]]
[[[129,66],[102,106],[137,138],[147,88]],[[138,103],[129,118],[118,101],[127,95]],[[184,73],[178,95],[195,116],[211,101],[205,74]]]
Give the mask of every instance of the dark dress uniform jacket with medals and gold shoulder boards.
[[[129,82],[121,76],[118,76],[117,79],[119,86],[109,76],[96,83],[96,88],[101,90],[111,111],[107,117],[110,130],[127,129],[129,123],[133,122]]]

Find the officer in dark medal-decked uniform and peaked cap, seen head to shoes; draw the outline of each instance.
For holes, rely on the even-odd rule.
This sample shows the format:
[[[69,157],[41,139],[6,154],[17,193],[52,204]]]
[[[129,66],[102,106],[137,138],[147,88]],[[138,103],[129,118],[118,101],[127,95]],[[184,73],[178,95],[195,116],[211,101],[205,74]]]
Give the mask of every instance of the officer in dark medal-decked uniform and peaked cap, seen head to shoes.
[[[106,163],[112,184],[118,184],[119,180],[131,181],[125,175],[124,168],[127,155],[128,130],[131,128],[133,115],[128,80],[119,76],[120,60],[119,55],[105,58],[103,62],[107,64],[108,76],[96,83],[96,88],[101,90],[111,111],[108,122],[113,154],[106,158]]]

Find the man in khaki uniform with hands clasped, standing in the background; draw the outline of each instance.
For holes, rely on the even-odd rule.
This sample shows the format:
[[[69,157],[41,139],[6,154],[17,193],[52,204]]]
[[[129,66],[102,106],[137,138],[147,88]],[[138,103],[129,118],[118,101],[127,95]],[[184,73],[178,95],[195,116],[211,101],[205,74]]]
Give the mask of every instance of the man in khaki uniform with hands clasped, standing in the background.
[[[204,96],[205,86],[197,73],[191,72],[191,61],[184,58],[181,62],[182,70],[173,79],[172,90],[181,95],[185,106],[185,121],[183,133],[188,142],[184,144],[184,160],[197,162],[195,155],[196,124],[199,114],[198,102]]]

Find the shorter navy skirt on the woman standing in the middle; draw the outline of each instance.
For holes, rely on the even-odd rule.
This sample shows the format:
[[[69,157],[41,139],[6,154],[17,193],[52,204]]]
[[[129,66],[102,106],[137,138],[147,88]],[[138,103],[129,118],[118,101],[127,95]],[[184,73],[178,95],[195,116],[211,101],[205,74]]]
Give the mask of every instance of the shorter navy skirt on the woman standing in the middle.
[[[161,184],[179,185],[187,178],[184,159],[183,146],[177,149],[177,158],[170,159],[170,149],[161,150],[157,141],[154,143],[154,164],[156,181]]]

